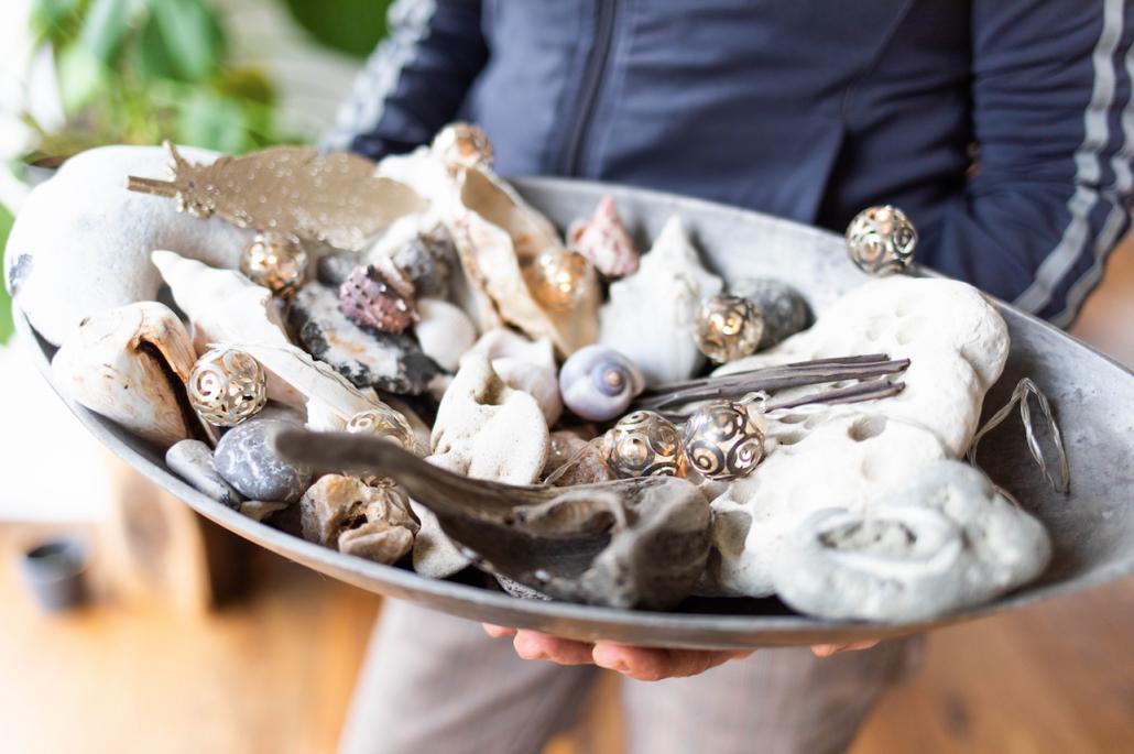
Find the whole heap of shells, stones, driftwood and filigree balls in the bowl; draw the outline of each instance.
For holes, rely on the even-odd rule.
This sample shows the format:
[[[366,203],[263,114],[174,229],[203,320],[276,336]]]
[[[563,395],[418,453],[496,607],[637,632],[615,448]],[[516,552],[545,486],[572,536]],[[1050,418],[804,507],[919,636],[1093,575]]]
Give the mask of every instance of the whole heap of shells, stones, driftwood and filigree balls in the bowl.
[[[604,197],[565,243],[467,124],[365,169],[169,150],[171,181],[156,149],[71,160],[17,222],[9,287],[60,346],[60,389],[229,507],[269,523],[295,507],[304,537],[424,575],[474,565],[623,608],[779,593],[920,618],[1047,562],[1042,527],[950,460],[1008,346],[964,283],[878,280],[816,321],[780,281],[726,287],[677,217],[640,254]],[[59,223],[49,206],[92,176],[103,190]],[[871,212],[852,257],[904,269],[913,227]],[[96,290],[46,293],[79,285]],[[697,379],[708,362],[719,376]],[[1010,562],[971,544],[998,532]]]

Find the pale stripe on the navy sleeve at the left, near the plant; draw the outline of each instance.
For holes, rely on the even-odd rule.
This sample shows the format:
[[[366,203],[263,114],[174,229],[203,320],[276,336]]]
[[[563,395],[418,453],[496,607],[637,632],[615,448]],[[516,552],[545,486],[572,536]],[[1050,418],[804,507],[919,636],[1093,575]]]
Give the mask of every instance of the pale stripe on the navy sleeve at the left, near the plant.
[[[320,143],[324,152],[347,151],[355,136],[378,127],[386,99],[397,90],[401,71],[416,58],[434,14],[435,0],[397,0],[390,6],[390,35],[355,79],[350,98],[339,108],[333,128]]]

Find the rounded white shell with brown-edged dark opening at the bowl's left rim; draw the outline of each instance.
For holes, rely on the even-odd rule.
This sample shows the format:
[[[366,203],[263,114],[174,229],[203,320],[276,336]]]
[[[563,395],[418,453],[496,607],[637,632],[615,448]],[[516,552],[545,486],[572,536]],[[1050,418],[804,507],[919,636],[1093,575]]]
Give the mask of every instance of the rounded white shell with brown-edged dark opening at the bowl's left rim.
[[[86,317],[51,362],[59,390],[130,432],[168,448],[212,437],[185,395],[196,361],[185,325],[167,306],[128,304]]]

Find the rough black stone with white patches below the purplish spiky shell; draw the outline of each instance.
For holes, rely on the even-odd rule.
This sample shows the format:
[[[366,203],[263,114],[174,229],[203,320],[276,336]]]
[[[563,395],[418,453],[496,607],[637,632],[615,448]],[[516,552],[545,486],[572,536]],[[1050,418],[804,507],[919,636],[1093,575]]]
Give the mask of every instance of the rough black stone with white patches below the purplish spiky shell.
[[[407,334],[361,328],[339,311],[335,288],[307,283],[296,294],[288,321],[299,345],[359,388],[417,396],[440,368]]]

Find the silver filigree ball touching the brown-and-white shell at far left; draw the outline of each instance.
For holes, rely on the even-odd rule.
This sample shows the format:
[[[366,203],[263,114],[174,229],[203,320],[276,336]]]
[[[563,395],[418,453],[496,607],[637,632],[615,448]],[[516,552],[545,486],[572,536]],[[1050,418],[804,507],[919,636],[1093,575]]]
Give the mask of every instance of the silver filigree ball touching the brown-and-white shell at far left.
[[[213,348],[193,365],[186,390],[197,416],[215,426],[236,426],[268,403],[268,375],[249,354]]]

